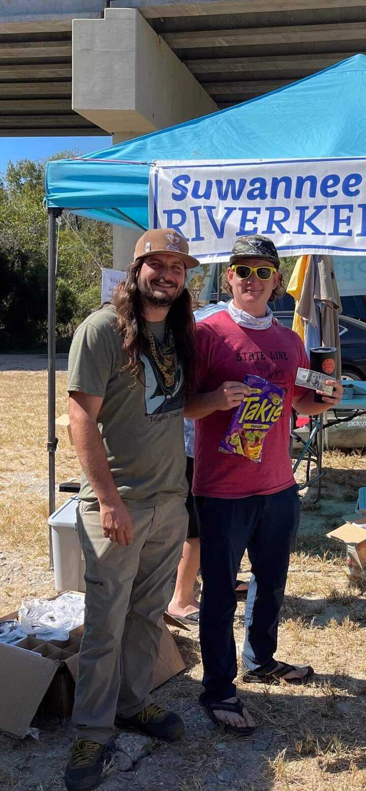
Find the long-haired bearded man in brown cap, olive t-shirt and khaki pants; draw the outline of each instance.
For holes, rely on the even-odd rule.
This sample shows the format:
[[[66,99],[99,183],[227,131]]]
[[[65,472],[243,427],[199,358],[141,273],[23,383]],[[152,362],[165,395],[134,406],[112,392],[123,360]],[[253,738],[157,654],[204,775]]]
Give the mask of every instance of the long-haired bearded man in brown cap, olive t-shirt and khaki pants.
[[[68,791],[100,784],[115,725],[164,740],[184,729],[150,693],[188,524],[183,407],[195,332],[185,274],[197,263],[176,231],[147,231],[112,304],[88,316],[71,345],[86,612]]]

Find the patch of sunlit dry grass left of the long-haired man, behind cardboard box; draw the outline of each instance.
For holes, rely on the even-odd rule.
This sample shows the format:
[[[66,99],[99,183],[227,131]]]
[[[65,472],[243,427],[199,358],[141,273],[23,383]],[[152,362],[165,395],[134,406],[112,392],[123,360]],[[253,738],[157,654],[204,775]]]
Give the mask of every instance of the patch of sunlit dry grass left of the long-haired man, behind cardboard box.
[[[63,414],[68,408],[66,373],[57,373],[56,386],[56,414]],[[8,612],[24,596],[54,593],[48,572],[46,372],[0,373],[0,437],[0,551],[11,560],[11,575],[2,577],[0,612]],[[60,430],[56,481],[73,477],[79,479],[80,467]],[[56,495],[57,504],[64,499]]]

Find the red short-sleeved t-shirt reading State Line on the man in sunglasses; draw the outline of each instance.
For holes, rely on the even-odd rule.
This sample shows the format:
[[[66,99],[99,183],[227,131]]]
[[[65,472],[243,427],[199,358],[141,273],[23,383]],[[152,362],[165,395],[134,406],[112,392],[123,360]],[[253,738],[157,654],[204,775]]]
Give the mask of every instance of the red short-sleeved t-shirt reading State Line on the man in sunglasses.
[[[284,410],[265,437],[261,463],[218,451],[227,433],[232,410],[215,411],[196,420],[193,494],[205,497],[243,498],[275,494],[295,483],[289,453],[290,415],[296,371],[309,368],[301,339],[288,327],[272,324],[268,330],[240,327],[227,311],[215,313],[196,327],[199,358],[198,392],[212,392],[225,381],[242,381],[247,373],[284,388]]]

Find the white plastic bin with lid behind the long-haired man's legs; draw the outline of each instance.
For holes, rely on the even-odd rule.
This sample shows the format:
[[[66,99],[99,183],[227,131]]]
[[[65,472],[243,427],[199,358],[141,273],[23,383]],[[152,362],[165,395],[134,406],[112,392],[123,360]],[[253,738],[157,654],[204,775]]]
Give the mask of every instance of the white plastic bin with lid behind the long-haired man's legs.
[[[76,528],[77,506],[78,497],[71,497],[48,519],[52,528],[55,589],[60,593],[85,592],[85,558]]]

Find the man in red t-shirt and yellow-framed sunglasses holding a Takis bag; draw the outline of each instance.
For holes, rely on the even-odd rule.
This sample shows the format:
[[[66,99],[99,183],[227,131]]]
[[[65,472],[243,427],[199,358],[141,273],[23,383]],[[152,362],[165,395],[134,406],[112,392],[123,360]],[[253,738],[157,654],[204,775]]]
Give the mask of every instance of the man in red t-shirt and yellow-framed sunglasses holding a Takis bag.
[[[187,417],[196,420],[193,493],[200,527],[203,593],[200,645],[205,691],[200,702],[217,725],[244,735],[254,720],[236,697],[236,649],[233,634],[234,585],[248,550],[252,578],[246,604],[246,642],[242,653],[245,680],[283,678],[303,683],[310,666],[273,659],[280,607],[292,542],[299,524],[299,498],[289,455],[292,407],[319,414],[341,399],[341,384],[315,403],[314,392],[295,386],[297,369],[309,368],[295,332],[273,323],[268,301],[281,288],[280,260],[273,241],[241,237],[227,269],[232,294],[228,310],[196,327],[199,360],[196,393]],[[284,407],[263,443],[261,462],[218,452],[233,407],[250,393],[243,384],[254,374],[284,390]]]

